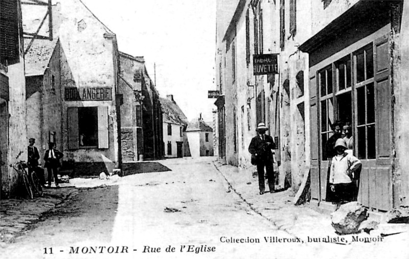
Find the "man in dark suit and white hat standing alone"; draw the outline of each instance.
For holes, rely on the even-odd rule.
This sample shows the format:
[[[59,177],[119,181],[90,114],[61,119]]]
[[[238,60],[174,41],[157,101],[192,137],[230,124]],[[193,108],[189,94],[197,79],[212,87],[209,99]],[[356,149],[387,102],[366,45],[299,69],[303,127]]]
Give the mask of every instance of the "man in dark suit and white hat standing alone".
[[[260,195],[264,194],[265,191],[264,167],[267,173],[270,193],[274,192],[275,187],[272,152],[276,148],[276,145],[272,137],[265,134],[267,130],[268,128],[264,123],[259,123],[256,129],[258,134],[253,137],[250,146],[248,146],[248,152],[252,154],[252,164],[257,166]]]

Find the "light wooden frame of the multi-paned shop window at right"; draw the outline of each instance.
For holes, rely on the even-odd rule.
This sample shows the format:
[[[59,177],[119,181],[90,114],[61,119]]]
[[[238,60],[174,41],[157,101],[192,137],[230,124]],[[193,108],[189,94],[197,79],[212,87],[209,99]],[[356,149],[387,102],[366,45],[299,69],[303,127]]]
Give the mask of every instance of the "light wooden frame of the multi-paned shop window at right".
[[[375,48],[375,41],[371,41],[368,44],[365,44],[363,46],[361,46],[358,49],[355,49],[353,51],[350,51],[347,55],[345,55],[342,58],[339,58],[335,61],[332,61],[329,64],[323,65],[321,66],[320,69],[317,69],[315,74],[316,74],[316,78],[317,78],[317,97],[318,97],[318,102],[317,104],[319,105],[319,114],[318,114],[318,123],[317,123],[317,127],[318,127],[318,131],[320,134],[320,143],[321,143],[321,148],[320,148],[320,158],[322,161],[327,160],[325,156],[325,143],[323,141],[323,135],[326,134],[326,141],[328,140],[328,138],[332,135],[332,129],[329,126],[328,121],[326,121],[325,123],[327,123],[327,128],[326,131],[323,131],[323,102],[325,102],[326,104],[326,117],[327,120],[331,119],[334,121],[340,120],[340,108],[338,107],[338,98],[342,95],[345,94],[350,94],[351,97],[351,127],[352,127],[352,132],[353,132],[353,137],[354,137],[354,154],[356,157],[358,157],[359,154],[359,147],[358,147],[358,143],[359,143],[359,136],[358,136],[358,129],[365,127],[365,157],[358,157],[359,159],[362,160],[375,160],[377,159],[377,149],[378,149],[378,143],[377,143],[377,113],[376,113],[376,82],[375,82],[375,52],[373,50],[373,48]],[[371,50],[371,51],[368,51]],[[363,77],[364,79],[360,82],[358,82],[358,76],[357,76],[357,55],[359,53],[363,52]],[[368,53],[371,53],[372,55],[372,69],[374,69],[373,73],[368,73],[367,68],[368,68],[368,64],[367,64],[367,60],[369,60],[368,57]],[[350,73],[348,73],[348,69],[347,69],[347,65],[346,62],[349,62],[350,64]],[[339,83],[341,82],[341,80],[339,80],[340,78],[340,69],[339,69],[339,64],[344,63],[345,65],[345,69],[344,69],[344,83],[345,83],[345,88],[341,89],[342,87],[340,87]],[[369,66],[371,67],[371,66]],[[328,92],[328,90],[330,88],[328,88],[328,69],[332,68],[332,92]],[[326,85],[325,85],[325,93],[323,93],[323,86],[322,86],[322,72],[326,71]],[[372,76],[369,78],[369,76]],[[347,82],[347,77],[350,77],[350,86],[348,86],[348,82]],[[373,122],[368,122],[368,88],[369,87],[373,87],[372,89],[372,103],[373,103]],[[365,123],[358,125],[358,91],[360,89],[364,89],[363,92],[365,93],[365,104],[363,104],[365,106]],[[329,117],[330,111],[328,110],[328,100],[332,100],[332,116]],[[344,122],[346,123],[346,122]],[[374,131],[374,141],[375,141],[375,151],[373,154],[371,154],[371,156],[368,155],[368,129],[369,128],[373,128]],[[371,141],[371,140],[370,140]]]

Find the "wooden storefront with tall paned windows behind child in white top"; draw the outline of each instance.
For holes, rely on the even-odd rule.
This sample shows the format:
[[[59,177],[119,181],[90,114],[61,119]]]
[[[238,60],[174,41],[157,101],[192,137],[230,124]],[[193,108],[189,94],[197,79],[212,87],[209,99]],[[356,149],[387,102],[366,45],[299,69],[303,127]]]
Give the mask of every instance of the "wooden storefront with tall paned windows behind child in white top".
[[[300,46],[309,53],[311,203],[317,206],[330,204],[325,145],[335,121],[352,125],[353,153],[362,161],[357,200],[372,211],[395,202],[390,6],[370,2],[351,7]]]

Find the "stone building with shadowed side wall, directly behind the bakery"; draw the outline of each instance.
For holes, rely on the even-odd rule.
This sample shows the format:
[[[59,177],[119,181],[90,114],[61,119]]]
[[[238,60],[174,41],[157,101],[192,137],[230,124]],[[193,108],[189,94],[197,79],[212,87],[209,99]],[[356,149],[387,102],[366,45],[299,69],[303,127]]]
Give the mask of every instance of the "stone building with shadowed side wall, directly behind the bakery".
[[[119,92],[123,96],[121,105],[121,142],[122,159],[124,162],[143,161],[146,159],[157,159],[161,157],[160,152],[155,154],[145,154],[145,151],[152,150],[152,135],[156,139],[156,150],[162,147],[162,130],[152,129],[152,120],[158,120],[162,125],[162,116],[158,116],[157,91],[146,71],[143,57],[133,57],[120,52],[121,74],[119,80]],[[148,93],[147,96],[142,91]],[[145,98],[147,100],[145,100]],[[145,105],[144,102],[149,102]],[[156,114],[156,115],[155,115]],[[145,134],[149,133],[149,134]],[[149,136],[150,139],[147,137]]]

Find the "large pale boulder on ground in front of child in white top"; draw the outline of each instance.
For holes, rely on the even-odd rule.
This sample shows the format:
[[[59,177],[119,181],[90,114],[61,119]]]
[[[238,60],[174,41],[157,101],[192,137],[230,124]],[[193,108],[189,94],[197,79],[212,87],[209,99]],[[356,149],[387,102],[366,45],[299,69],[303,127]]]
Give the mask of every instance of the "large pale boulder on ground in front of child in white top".
[[[359,225],[367,218],[367,209],[357,201],[343,204],[331,214],[332,226],[338,234],[358,233]]]

